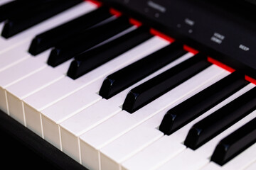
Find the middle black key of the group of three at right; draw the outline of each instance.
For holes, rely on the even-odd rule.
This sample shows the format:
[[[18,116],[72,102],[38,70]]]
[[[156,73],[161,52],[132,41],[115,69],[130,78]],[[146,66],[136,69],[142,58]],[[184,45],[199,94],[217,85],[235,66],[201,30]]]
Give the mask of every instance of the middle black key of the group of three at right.
[[[184,144],[191,149],[197,149],[254,111],[255,108],[256,88],[253,88],[193,125]]]

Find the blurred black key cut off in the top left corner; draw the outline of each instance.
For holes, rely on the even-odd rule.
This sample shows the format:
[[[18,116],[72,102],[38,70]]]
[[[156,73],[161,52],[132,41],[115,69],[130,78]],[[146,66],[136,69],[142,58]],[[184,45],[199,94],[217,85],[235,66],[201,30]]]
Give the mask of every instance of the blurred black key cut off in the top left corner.
[[[25,11],[31,6],[38,4],[38,1],[23,0],[23,1],[11,1],[0,6],[0,22],[5,21],[10,16],[14,16],[19,11]]]

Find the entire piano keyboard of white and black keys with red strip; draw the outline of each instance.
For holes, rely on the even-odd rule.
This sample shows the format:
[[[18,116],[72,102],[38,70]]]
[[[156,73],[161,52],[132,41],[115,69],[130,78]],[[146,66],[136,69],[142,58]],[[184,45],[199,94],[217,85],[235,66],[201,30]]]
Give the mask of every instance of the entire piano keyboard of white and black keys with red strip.
[[[58,1],[0,18],[1,111],[87,169],[256,168],[248,77],[104,4]]]

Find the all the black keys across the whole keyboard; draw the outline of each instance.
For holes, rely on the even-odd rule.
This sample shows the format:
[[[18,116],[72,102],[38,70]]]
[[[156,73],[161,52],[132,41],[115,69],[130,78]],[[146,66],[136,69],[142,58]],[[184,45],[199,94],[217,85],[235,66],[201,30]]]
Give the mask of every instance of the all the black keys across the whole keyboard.
[[[73,1],[71,4],[69,1],[61,1],[61,4],[66,3],[61,10],[60,7],[53,6],[53,2],[60,6],[60,1],[32,2],[28,0],[22,3],[21,1],[14,1],[1,6],[0,13],[5,12],[5,14],[8,14],[6,11],[15,6],[23,5],[26,8],[35,8],[36,5],[38,6],[41,3],[48,4],[47,10],[44,7],[41,11],[30,11],[30,15],[28,13],[17,15],[18,12],[22,11],[21,8],[17,8],[16,13],[9,13],[9,16],[3,15],[1,20],[8,19],[8,22],[4,26],[2,35],[5,38],[9,38],[59,13],[61,10],[65,10],[65,8],[68,8],[67,6],[71,7],[78,4],[80,1]],[[33,13],[33,16],[31,16],[31,13]],[[46,13],[48,14],[46,15]],[[44,50],[54,47],[48,58],[48,64],[53,67],[75,57],[75,60],[70,64],[68,76],[77,79],[152,37],[148,28],[143,26],[131,30],[129,33],[120,34],[131,26],[128,19],[124,16],[113,18],[107,8],[101,7],[73,21],[36,35],[28,51],[31,55],[38,55]],[[114,36],[115,38],[113,38]],[[102,45],[99,45],[100,43]],[[95,47],[95,45],[98,46]],[[182,45],[174,42],[108,76],[102,84],[100,95],[106,99],[111,98],[134,84],[134,82],[143,79],[185,53],[186,51],[183,50]],[[210,63],[207,62],[206,57],[198,54],[129,91],[124,101],[123,109],[129,113],[134,113],[134,111],[137,111],[209,66]],[[171,135],[172,132],[205,113],[247,84],[248,82],[237,72],[230,74],[230,76],[218,81],[216,84],[168,111],[159,129],[165,134]],[[197,149],[230,127],[230,125],[233,125],[241,118],[244,118],[245,115],[254,111],[256,106],[255,91],[255,88],[248,91],[199,123],[196,123],[196,125],[193,125],[193,128],[191,128],[186,137],[185,145],[192,149]],[[248,135],[251,137],[248,138]],[[252,145],[255,139],[255,120],[252,120],[252,122],[220,142],[215,149],[212,159],[218,164],[224,164],[232,157],[235,157],[235,154]],[[229,146],[228,149],[227,146]]]

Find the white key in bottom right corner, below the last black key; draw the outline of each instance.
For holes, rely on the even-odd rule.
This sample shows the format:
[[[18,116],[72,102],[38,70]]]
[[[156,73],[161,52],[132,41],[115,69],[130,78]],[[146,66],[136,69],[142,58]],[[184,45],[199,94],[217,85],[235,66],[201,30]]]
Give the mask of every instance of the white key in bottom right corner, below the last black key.
[[[203,167],[202,170],[242,170],[247,168],[246,170],[250,169],[250,165],[252,165],[252,169],[255,166],[256,161],[256,143],[252,145],[251,147],[245,149],[244,152],[238,154],[235,158],[230,160],[230,162],[227,162],[223,166],[219,166],[218,164],[215,164],[214,162],[210,162],[207,166]],[[254,164],[253,164],[254,163]],[[249,167],[248,167],[249,166]]]

